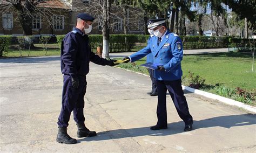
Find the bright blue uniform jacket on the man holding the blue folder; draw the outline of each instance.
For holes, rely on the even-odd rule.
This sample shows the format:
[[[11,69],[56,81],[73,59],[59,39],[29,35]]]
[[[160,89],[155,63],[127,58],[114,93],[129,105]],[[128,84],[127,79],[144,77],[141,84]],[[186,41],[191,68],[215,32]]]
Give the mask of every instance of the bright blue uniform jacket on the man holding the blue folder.
[[[130,55],[131,62],[139,60],[152,52],[153,64],[163,65],[165,71],[154,71],[157,80],[178,80],[181,79],[181,60],[183,59],[183,46],[177,34],[166,32],[159,46],[158,37],[152,37],[147,46],[142,50]]]

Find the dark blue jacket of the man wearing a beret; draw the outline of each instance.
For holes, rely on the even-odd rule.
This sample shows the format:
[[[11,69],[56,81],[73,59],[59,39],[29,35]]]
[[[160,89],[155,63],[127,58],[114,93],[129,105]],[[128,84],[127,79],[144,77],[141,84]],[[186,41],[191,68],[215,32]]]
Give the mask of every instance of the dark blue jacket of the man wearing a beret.
[[[76,27],[63,39],[60,58],[62,73],[71,77],[88,74],[90,61],[99,65],[109,65],[108,60],[91,51],[89,37]]]

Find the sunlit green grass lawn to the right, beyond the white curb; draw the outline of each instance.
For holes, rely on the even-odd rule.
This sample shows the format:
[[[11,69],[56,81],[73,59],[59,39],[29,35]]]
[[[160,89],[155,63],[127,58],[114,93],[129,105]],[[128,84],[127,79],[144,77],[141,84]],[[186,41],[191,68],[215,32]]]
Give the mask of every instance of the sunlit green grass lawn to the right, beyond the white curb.
[[[136,61],[136,65],[144,64],[146,58]],[[120,67],[132,67],[120,65]],[[240,87],[248,90],[256,89],[256,71],[252,72],[252,56],[247,53],[211,53],[184,55],[181,62],[183,75],[188,71],[205,78],[208,85],[221,84],[227,87]],[[133,71],[147,74],[144,67],[133,66]]]

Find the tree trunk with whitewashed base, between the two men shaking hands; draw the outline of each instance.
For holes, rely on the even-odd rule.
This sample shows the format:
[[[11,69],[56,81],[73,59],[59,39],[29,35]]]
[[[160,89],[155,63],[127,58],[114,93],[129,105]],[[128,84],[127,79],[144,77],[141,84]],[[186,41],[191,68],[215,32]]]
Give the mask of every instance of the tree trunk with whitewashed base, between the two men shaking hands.
[[[110,0],[103,1],[103,17],[104,17],[104,25],[102,28],[103,35],[103,51],[102,57],[109,59],[109,12],[110,12]]]

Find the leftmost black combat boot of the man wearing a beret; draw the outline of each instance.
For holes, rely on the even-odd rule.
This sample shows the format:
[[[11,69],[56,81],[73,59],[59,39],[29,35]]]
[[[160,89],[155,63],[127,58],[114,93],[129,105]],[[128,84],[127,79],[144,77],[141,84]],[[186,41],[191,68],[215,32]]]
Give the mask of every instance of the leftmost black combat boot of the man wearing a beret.
[[[65,143],[65,144],[75,144],[77,140],[72,138],[66,133],[66,127],[59,127],[58,135],[56,138],[58,143]]]

